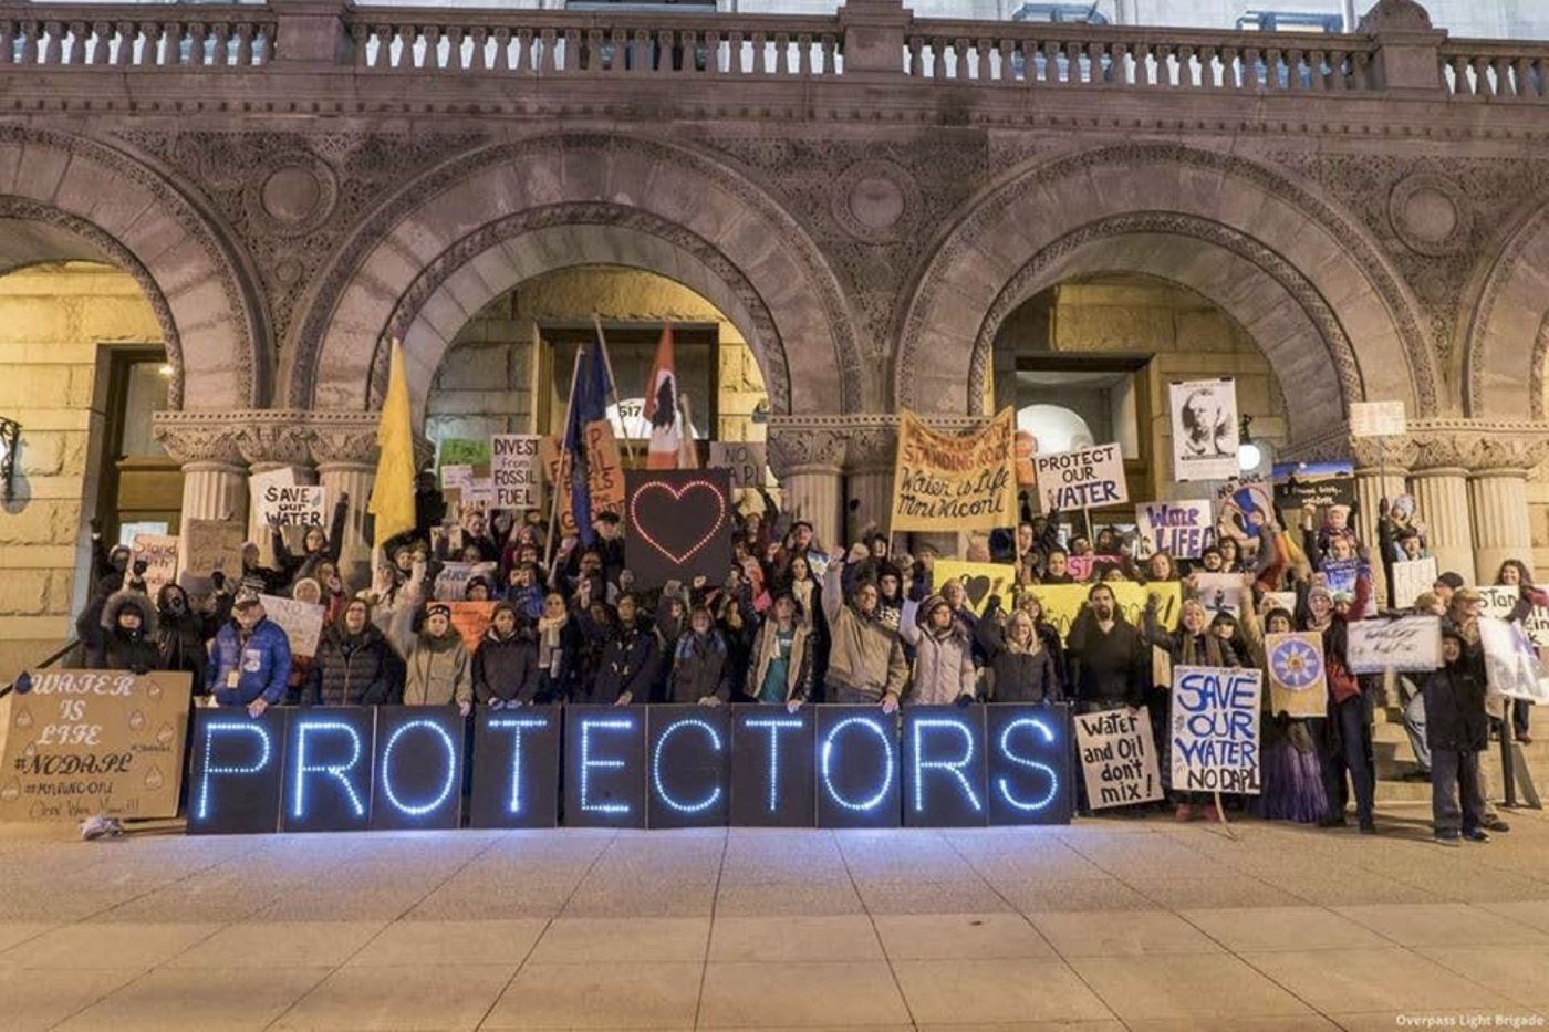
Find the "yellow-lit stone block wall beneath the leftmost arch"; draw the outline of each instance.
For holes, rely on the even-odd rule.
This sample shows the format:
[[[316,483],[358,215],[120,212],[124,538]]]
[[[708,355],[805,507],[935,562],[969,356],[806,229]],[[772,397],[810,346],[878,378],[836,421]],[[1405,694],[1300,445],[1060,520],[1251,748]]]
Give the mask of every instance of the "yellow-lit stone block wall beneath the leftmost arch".
[[[85,603],[84,511],[96,501],[104,342],[161,339],[124,273],[76,262],[0,276],[0,415],[22,423],[15,497],[0,516],[0,682],[73,635]]]

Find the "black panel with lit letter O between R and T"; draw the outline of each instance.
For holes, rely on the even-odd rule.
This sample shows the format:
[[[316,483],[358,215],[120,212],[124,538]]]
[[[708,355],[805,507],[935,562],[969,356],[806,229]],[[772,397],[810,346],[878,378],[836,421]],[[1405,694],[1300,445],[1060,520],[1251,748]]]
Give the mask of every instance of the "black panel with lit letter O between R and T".
[[[372,827],[459,827],[463,739],[457,707],[380,707]]]

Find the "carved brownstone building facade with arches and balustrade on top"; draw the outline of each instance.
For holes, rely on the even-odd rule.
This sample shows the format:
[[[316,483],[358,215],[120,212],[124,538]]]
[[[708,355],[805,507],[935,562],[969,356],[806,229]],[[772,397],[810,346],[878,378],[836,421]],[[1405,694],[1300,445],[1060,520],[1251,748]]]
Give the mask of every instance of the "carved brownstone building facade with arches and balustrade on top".
[[[1534,555],[1549,45],[1453,40],[1413,0],[1315,39],[902,0],[121,11],[0,14],[0,270],[96,262],[138,287],[184,519],[243,511],[246,476],[283,465],[367,497],[390,338],[434,417],[491,304],[618,267],[734,327],[787,504],[836,539],[849,499],[883,505],[900,408],[974,425],[1024,305],[1120,277],[1224,313],[1278,384],[1279,454],[1354,457],[1368,514],[1414,493],[1444,566]],[[5,380],[39,375],[15,355]],[[54,592],[59,572],[79,603],[87,510],[28,466],[90,432],[67,383],[0,395],[23,425],[0,578],[45,569]],[[1405,403],[1385,454],[1349,435],[1362,400]],[[62,614],[0,628],[68,634]]]

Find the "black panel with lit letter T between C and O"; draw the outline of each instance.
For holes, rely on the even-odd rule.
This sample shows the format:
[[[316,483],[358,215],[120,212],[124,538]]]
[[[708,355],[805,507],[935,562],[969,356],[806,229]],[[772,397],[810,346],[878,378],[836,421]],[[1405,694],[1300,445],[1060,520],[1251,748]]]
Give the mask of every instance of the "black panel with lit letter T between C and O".
[[[731,823],[812,827],[818,820],[813,713],[802,707],[731,708]]]

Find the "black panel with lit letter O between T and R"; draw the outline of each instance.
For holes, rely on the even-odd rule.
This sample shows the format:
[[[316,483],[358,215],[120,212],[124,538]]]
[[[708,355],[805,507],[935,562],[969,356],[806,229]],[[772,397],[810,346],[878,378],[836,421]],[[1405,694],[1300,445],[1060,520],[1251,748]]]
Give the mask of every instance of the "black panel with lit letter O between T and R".
[[[818,827],[898,826],[898,719],[880,707],[818,707]]]

